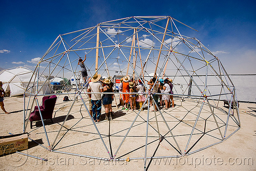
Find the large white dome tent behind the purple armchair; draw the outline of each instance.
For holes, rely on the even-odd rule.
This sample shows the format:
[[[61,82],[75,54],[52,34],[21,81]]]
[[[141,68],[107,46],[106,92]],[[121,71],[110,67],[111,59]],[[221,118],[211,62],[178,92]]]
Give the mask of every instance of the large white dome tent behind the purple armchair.
[[[5,91],[10,91],[10,96],[18,96],[23,95],[28,87],[30,79],[34,79],[35,75],[33,75],[33,71],[25,67],[18,67],[14,69],[2,70],[0,72],[0,80],[4,83],[3,89]],[[41,76],[39,79],[39,87],[46,81],[44,76]],[[30,86],[32,86],[32,82]],[[49,94],[51,91],[48,86],[49,83],[46,81],[44,86],[42,87],[40,94]],[[32,93],[35,93],[35,89],[32,90]]]

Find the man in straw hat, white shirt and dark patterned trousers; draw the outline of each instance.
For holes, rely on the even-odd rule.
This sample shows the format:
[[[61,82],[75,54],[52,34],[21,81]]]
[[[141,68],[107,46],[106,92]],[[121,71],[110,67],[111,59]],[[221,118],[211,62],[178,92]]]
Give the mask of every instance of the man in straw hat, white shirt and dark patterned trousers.
[[[93,120],[94,122],[100,121],[101,115],[101,94],[100,92],[103,91],[102,85],[99,82],[100,74],[95,74],[91,82],[88,86],[88,91],[92,92],[92,111],[93,111]],[[95,93],[95,94],[94,94]]]

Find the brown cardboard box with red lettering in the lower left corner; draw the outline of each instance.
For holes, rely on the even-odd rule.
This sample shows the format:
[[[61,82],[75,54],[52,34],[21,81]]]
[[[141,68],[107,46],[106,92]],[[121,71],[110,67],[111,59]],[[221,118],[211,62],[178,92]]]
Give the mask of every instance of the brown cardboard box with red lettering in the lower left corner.
[[[0,137],[0,155],[28,149],[28,133]]]

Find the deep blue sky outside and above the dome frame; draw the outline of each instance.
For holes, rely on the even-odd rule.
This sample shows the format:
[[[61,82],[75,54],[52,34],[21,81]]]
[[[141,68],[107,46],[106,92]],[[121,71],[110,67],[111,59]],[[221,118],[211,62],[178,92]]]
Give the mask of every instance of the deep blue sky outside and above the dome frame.
[[[63,33],[129,16],[172,16],[229,74],[256,73],[255,1],[0,1],[0,68],[35,67]]]

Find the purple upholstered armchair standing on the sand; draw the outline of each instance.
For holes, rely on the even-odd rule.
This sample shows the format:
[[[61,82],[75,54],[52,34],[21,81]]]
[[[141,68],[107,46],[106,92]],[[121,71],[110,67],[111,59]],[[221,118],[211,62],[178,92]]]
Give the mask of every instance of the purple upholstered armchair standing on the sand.
[[[52,114],[54,110],[54,106],[57,100],[57,96],[52,95],[52,96],[44,96],[42,98],[42,105],[39,106],[39,109],[42,114],[43,119],[51,119],[52,120]],[[29,121],[30,121],[30,128],[32,129],[32,122],[33,121],[38,121],[41,120],[40,113],[39,113],[38,106],[35,106],[35,109],[33,112],[31,112]]]

